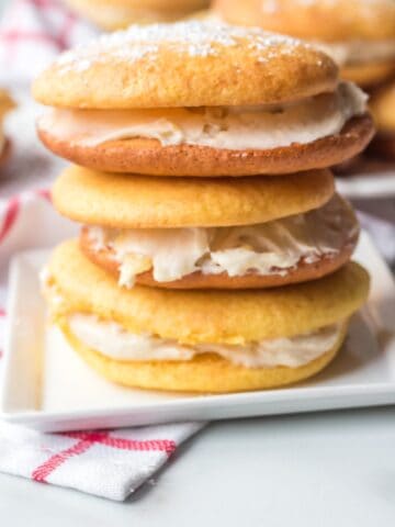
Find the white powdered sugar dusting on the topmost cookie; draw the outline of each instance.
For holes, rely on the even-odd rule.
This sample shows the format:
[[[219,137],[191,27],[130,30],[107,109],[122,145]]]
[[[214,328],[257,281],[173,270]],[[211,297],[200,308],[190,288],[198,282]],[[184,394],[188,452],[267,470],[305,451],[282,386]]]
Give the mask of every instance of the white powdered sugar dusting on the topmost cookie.
[[[155,60],[162,45],[190,57],[207,57],[216,55],[218,48],[236,46],[240,41],[247,41],[248,48],[256,53],[258,61],[267,61],[278,53],[292,53],[295,46],[308,46],[296,38],[264,32],[259,27],[189,21],[132,25],[60,55],[56,64],[60,67],[60,74],[67,74],[70,70],[86,71],[109,58],[132,64],[144,57]]]

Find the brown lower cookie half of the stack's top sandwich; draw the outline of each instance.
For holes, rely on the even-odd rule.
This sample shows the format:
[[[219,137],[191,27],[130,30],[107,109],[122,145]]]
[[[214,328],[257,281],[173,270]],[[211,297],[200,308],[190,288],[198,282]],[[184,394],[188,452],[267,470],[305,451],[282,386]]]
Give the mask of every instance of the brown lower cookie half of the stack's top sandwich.
[[[307,144],[272,149],[230,150],[198,145],[161,146],[158,139],[110,141],[81,146],[60,141],[38,128],[42,142],[54,154],[77,165],[111,172],[154,176],[253,176],[293,173],[326,168],[360,153],[374,133],[370,115],[354,117],[338,135]]]

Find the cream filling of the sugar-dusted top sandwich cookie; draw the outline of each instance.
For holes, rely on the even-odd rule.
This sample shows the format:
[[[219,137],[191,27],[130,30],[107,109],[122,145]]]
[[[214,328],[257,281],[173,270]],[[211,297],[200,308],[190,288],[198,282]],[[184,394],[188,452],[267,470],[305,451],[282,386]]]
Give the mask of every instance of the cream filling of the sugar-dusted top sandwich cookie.
[[[338,134],[352,116],[366,111],[366,99],[357,86],[341,82],[335,93],[269,106],[54,109],[40,119],[38,127],[60,141],[87,147],[145,137],[163,146],[270,149]]]

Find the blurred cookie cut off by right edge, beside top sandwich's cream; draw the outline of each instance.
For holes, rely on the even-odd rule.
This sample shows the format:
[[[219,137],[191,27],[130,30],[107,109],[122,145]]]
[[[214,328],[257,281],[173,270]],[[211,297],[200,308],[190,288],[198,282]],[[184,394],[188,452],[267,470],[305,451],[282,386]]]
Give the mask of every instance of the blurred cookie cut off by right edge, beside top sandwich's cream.
[[[395,159],[395,81],[374,91],[370,105],[377,134],[368,152],[374,156]]]

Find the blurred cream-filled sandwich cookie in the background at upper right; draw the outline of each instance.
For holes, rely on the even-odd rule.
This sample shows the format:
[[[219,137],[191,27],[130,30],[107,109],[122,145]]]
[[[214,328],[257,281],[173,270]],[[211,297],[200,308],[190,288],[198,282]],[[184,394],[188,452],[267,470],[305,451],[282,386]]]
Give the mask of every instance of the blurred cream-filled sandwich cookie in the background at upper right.
[[[315,43],[361,86],[395,72],[393,0],[215,0],[230,23],[259,25]]]

